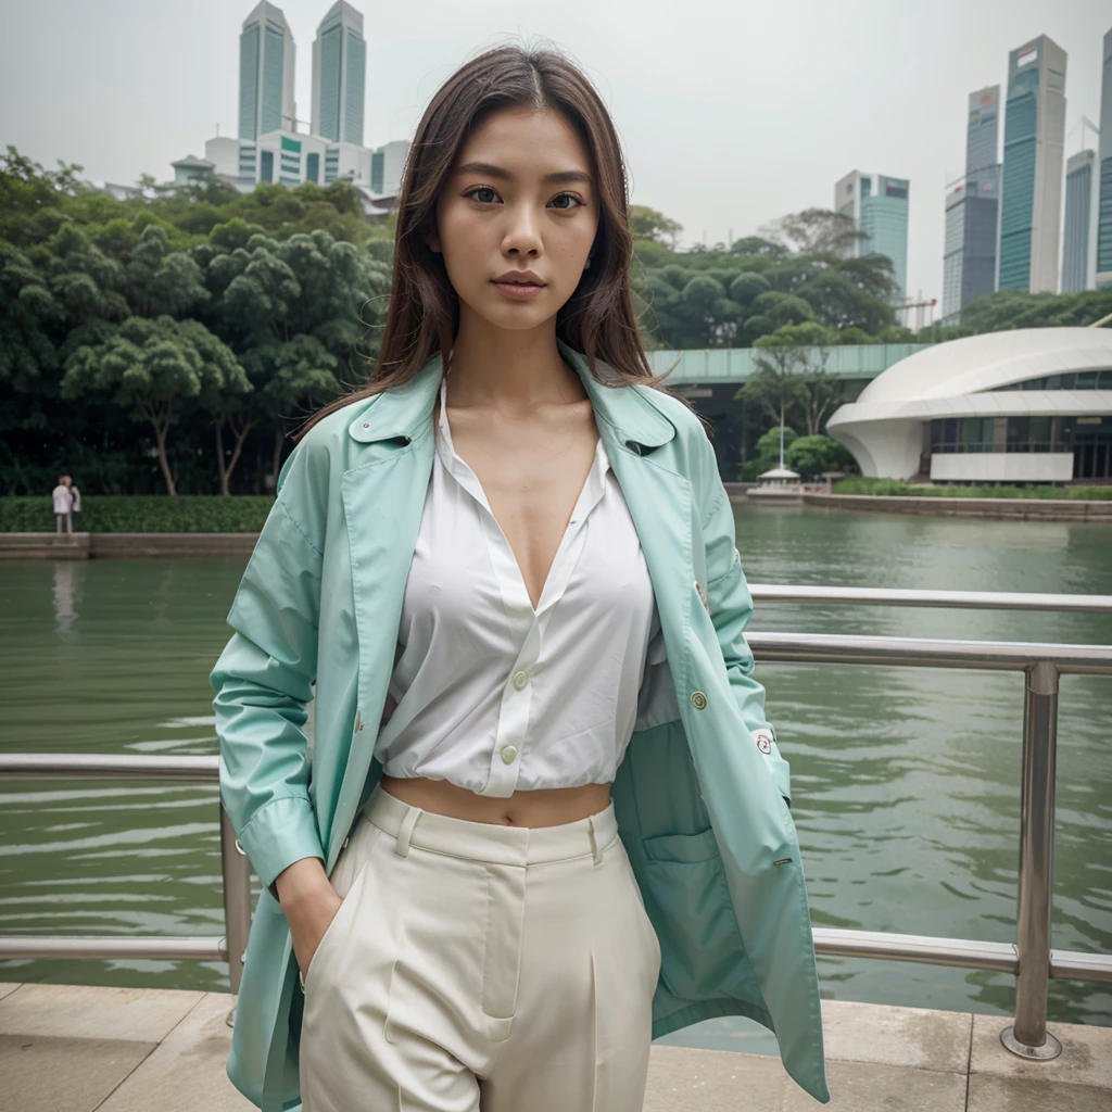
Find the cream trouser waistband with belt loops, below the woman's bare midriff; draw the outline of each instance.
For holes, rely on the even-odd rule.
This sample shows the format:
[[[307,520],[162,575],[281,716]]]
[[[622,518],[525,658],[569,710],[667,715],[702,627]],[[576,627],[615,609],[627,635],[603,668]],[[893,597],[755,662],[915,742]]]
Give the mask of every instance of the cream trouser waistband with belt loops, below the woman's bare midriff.
[[[506,826],[423,811],[376,784],[363,810],[375,826],[396,840],[395,853],[400,856],[417,846],[499,865],[538,865],[585,856],[598,861],[618,836],[613,803],[598,814],[558,826]]]

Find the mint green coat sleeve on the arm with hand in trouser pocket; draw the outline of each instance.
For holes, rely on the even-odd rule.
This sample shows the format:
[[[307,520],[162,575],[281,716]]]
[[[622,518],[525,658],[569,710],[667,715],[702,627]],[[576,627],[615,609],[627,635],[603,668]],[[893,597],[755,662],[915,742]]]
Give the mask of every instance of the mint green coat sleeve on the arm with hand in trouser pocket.
[[[209,677],[220,797],[268,887],[295,861],[325,860],[304,728],[317,677],[324,546],[301,512],[322,498],[312,489],[306,447],[299,445],[282,468],[278,497],[228,615],[235,633]]]

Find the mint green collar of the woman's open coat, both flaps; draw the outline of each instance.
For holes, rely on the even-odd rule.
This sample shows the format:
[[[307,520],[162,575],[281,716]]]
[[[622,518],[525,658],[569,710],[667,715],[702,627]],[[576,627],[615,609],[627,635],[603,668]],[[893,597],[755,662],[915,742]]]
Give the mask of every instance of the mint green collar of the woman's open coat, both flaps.
[[[595,361],[602,381],[590,374],[587,360],[578,351],[557,340],[560,355],[583,380],[590,398],[599,431],[609,434],[607,440],[616,441],[627,450],[644,455],[667,444],[676,428],[653,404],[651,390],[639,386],[624,386],[625,380],[607,364]],[[361,444],[376,440],[416,439],[433,419],[444,364],[435,355],[417,374],[401,386],[376,394],[359,407],[359,413],[348,424],[348,434]]]

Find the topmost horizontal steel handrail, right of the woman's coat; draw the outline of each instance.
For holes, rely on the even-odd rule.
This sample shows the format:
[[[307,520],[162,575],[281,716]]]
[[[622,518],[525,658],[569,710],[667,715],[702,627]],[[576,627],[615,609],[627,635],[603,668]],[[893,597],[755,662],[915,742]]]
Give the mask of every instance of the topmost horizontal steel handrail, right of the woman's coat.
[[[1003,590],[917,590],[880,587],[811,587],[751,583],[761,603],[834,603],[843,606],[944,606],[967,610],[1055,610],[1112,614],[1112,595],[1046,595]]]

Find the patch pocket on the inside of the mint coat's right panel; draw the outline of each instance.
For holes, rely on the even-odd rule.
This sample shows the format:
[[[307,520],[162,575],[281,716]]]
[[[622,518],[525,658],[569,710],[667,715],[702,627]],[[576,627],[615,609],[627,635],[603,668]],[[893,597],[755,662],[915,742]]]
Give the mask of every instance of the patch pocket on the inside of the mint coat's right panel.
[[[661,980],[677,1000],[753,999],[755,981],[713,830],[642,840]]]

